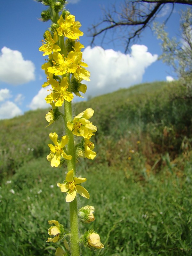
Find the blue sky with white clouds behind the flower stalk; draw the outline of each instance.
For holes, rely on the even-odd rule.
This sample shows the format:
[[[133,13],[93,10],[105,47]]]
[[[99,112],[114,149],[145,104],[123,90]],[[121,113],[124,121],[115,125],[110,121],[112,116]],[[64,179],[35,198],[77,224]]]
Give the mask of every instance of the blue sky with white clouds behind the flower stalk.
[[[147,29],[137,44],[130,45],[130,52],[124,54],[123,45],[106,43],[100,47],[90,47],[91,37],[88,27],[102,17],[101,7],[108,8],[111,3],[123,0],[70,0],[67,8],[82,24],[80,43],[84,44],[84,61],[89,65],[91,82],[87,82],[88,96],[96,96],[134,84],[165,81],[174,76],[171,69],[157,60],[161,54],[160,41]],[[159,21],[171,8],[160,13]],[[167,23],[171,36],[179,34],[179,14],[177,5]],[[183,7],[182,7],[183,8]],[[184,7],[185,8],[185,7]],[[38,51],[49,22],[41,22],[41,12],[46,7],[33,0],[1,1],[0,22],[0,119],[22,115],[28,110],[49,108],[44,98],[46,92],[42,84],[46,76],[41,69],[44,63],[42,52]],[[108,35],[110,37],[110,34]],[[75,100],[78,100],[75,98]]]

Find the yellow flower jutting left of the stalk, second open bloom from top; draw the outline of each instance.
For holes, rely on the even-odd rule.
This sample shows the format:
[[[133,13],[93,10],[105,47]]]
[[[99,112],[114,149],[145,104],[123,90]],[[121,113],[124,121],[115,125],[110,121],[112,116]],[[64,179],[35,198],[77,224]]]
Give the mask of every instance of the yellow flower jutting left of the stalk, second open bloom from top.
[[[45,37],[45,41],[42,40],[45,44],[39,48],[40,52],[44,52],[43,56],[49,55],[52,52],[59,52],[61,50],[60,47],[55,44],[59,39],[57,32],[55,32],[52,37],[51,32],[47,30],[45,31]]]

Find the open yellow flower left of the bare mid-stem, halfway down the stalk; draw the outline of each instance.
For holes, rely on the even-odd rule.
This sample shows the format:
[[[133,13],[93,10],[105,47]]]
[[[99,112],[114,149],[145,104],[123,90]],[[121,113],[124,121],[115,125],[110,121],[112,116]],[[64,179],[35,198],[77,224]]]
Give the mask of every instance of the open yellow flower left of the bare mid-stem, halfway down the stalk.
[[[58,134],[56,132],[54,133],[50,133],[49,134],[49,138],[52,140],[52,142],[55,145],[52,144],[48,144],[51,152],[50,154],[47,156],[47,160],[49,162],[51,162],[51,166],[53,167],[58,167],[60,165],[60,159],[61,157],[70,160],[72,158],[71,155],[67,155],[63,148],[65,147],[65,145],[68,143],[68,136],[62,136],[61,141],[58,140]]]

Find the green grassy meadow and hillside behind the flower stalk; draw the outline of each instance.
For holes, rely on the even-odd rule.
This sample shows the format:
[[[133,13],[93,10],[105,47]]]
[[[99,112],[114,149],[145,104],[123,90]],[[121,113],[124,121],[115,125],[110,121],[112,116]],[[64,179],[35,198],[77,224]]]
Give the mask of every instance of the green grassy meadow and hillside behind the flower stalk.
[[[74,115],[95,113],[97,157],[77,164],[87,178],[94,229],[105,248],[93,256],[192,255],[192,104],[180,82],[139,84],[75,104]],[[68,206],[57,188],[64,168],[46,160],[47,109],[0,121],[0,255],[54,255],[48,220],[67,225]],[[62,205],[62,207],[60,207]],[[81,225],[81,224],[80,224]],[[86,229],[84,229],[86,227]]]

